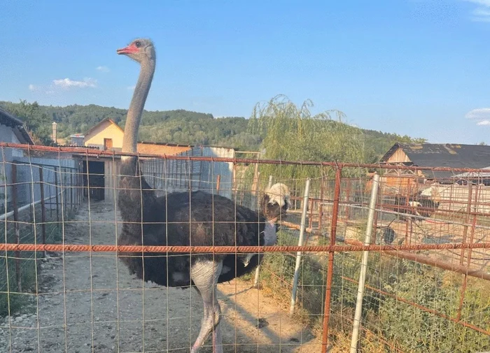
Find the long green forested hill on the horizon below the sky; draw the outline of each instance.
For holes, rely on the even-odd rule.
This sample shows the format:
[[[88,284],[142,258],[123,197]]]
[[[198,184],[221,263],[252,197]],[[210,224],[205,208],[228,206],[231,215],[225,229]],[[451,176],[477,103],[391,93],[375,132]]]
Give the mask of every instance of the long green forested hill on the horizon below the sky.
[[[38,106],[36,103],[11,103],[0,101],[12,113],[25,120],[29,126],[36,115],[36,126],[43,134],[50,131],[51,122],[58,123],[58,137],[87,132],[94,124],[109,117],[124,127],[127,110],[104,106]],[[34,112],[34,113],[33,113]],[[326,124],[342,124],[330,121]],[[36,128],[32,129],[36,134]],[[41,131],[41,129],[40,129]],[[366,156],[370,161],[380,157],[395,142],[414,141],[408,136],[360,129],[365,141]],[[40,136],[43,140],[43,136]],[[44,136],[44,138],[49,138]],[[251,134],[244,117],[215,118],[209,113],[188,110],[144,111],[139,133],[140,141],[183,143],[191,145],[222,145],[239,150],[258,150],[264,136]],[[417,140],[420,141],[420,140]]]

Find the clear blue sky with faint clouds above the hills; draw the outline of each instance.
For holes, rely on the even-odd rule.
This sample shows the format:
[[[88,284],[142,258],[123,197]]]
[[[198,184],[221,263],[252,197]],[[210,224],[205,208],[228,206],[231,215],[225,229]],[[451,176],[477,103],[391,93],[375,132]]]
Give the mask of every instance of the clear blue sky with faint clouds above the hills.
[[[490,144],[490,0],[1,1],[0,100],[127,108],[157,48],[149,110],[251,114],[286,94],[351,124]]]

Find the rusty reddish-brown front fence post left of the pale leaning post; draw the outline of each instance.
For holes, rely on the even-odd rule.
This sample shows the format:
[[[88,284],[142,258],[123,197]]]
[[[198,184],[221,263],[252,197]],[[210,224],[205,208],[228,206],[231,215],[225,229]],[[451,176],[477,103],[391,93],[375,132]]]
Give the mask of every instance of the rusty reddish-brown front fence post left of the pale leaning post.
[[[340,184],[342,183],[342,168],[337,166],[335,171],[335,189],[333,190],[332,224],[330,225],[330,245],[335,245],[337,238],[337,219],[339,217]],[[330,322],[330,298],[332,296],[333,259],[335,252],[328,252],[327,283],[325,288],[325,309],[323,312],[323,332],[321,335],[321,353],[327,352],[328,329]]]

